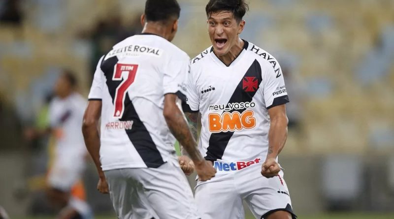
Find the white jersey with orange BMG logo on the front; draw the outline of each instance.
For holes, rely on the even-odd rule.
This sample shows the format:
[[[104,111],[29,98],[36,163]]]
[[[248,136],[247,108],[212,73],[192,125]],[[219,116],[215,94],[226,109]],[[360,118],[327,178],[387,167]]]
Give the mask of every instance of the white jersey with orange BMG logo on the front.
[[[191,61],[187,103],[201,113],[199,149],[218,174],[263,163],[268,151],[268,109],[289,102],[279,63],[245,42],[226,66],[212,46]]]

